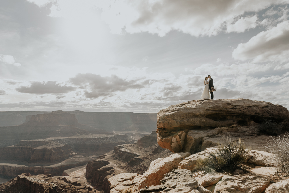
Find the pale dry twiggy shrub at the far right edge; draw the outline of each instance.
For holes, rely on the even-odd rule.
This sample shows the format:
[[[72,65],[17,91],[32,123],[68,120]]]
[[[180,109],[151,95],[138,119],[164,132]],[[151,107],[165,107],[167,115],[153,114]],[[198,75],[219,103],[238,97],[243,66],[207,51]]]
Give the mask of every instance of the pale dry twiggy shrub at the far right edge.
[[[276,175],[289,176],[289,135],[267,138],[264,147],[268,152],[274,153],[272,159],[276,162]]]

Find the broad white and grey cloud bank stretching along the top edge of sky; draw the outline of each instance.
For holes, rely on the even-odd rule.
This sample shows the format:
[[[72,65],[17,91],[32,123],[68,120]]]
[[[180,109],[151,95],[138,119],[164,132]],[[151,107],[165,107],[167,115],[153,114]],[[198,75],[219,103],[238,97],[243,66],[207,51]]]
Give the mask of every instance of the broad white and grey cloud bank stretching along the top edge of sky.
[[[38,2],[39,6],[49,0]],[[288,0],[107,0],[76,1],[56,0],[50,16],[77,16],[87,14],[83,10],[95,7],[103,10],[101,17],[109,25],[111,33],[123,34],[149,32],[165,36],[171,30],[182,31],[192,36],[212,36],[226,29],[227,32],[242,32],[256,26],[257,16],[240,18],[246,12],[258,12],[271,5],[288,3]],[[81,14],[80,14],[81,13]],[[82,16],[81,16],[82,17]],[[235,24],[231,24],[240,18]],[[85,21],[85,20],[83,20]]]

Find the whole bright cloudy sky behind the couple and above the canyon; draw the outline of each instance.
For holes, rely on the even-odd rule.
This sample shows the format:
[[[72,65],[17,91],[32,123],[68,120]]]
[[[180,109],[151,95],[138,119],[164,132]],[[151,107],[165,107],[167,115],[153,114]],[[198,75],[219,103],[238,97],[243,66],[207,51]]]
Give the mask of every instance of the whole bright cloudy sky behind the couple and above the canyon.
[[[0,111],[289,109],[289,0],[0,0]]]

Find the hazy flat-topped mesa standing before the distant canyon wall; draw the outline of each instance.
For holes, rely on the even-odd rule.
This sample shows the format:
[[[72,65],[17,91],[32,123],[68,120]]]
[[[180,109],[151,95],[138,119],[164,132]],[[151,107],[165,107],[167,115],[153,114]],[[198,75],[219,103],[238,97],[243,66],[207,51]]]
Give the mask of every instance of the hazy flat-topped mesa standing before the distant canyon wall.
[[[45,139],[51,137],[70,137],[90,135],[88,125],[77,122],[74,114],[63,111],[32,115],[27,122],[10,127],[0,127],[0,140]]]

